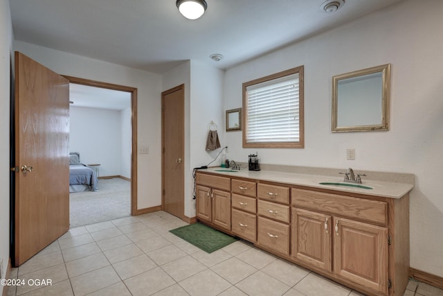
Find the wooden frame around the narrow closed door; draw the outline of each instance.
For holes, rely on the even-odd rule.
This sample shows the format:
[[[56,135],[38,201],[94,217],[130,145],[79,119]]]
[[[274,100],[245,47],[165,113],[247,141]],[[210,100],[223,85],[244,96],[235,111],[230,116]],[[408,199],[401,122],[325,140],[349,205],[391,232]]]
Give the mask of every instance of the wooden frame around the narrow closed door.
[[[177,92],[179,90],[183,91],[183,113],[185,112],[185,85],[184,83],[181,85],[177,85],[177,87],[172,87],[172,89],[168,89],[165,90],[164,92],[161,93],[161,210],[164,211],[165,210],[165,96],[167,96],[168,94],[172,94],[173,92]],[[184,130],[184,126],[185,126],[185,122],[186,121],[186,116],[183,114],[183,143],[181,143],[181,155],[183,155],[182,159],[183,159],[183,163],[186,164],[185,162],[185,130]],[[181,220],[184,220],[186,218],[185,215],[185,171],[186,171],[186,166],[185,168],[183,168],[183,213],[181,213]]]

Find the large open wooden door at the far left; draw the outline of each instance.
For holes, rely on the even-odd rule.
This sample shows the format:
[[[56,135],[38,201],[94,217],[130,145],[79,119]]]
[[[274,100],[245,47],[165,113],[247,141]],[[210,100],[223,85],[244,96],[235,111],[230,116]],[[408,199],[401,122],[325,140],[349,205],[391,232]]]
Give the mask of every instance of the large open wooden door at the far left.
[[[15,265],[69,229],[69,81],[15,52]]]

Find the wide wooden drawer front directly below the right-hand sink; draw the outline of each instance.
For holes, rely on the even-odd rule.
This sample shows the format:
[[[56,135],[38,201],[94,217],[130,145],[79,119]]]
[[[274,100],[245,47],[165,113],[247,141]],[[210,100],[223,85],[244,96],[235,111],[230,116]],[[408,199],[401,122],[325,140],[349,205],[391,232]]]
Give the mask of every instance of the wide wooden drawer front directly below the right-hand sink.
[[[291,191],[291,197],[292,205],[296,207],[326,211],[374,223],[388,223],[387,202],[295,188]]]

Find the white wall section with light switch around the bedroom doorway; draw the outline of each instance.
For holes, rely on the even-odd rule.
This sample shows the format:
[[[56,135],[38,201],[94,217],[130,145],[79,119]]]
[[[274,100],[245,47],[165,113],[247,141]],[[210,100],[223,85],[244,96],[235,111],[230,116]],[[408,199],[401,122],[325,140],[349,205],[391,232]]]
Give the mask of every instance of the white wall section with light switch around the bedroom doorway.
[[[14,46],[57,73],[138,89],[137,141],[139,146],[148,145],[150,153],[138,155],[137,207],[161,204],[161,76],[26,42],[16,41]]]

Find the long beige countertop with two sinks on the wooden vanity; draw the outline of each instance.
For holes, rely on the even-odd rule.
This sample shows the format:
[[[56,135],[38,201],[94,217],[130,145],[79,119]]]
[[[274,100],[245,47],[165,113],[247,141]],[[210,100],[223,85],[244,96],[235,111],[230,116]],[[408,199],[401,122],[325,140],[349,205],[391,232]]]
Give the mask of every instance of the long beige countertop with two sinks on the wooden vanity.
[[[344,183],[343,177],[334,177],[331,175],[316,175],[303,173],[288,173],[280,171],[248,171],[243,169],[235,172],[219,171],[229,170],[229,168],[213,167],[201,169],[201,172],[216,173],[218,175],[226,175],[228,177],[245,177],[254,180],[280,182],[284,184],[292,184],[299,186],[309,186],[313,188],[329,189],[332,191],[341,191],[349,193],[359,193],[363,195],[375,195],[384,198],[401,198],[406,193],[411,191],[414,187],[413,183],[406,182],[385,182],[379,180],[365,180],[363,179],[363,186],[370,186],[372,189],[362,189],[352,186],[336,186],[336,185],[322,185],[320,182],[334,182]],[[352,183],[346,183],[352,184]]]

